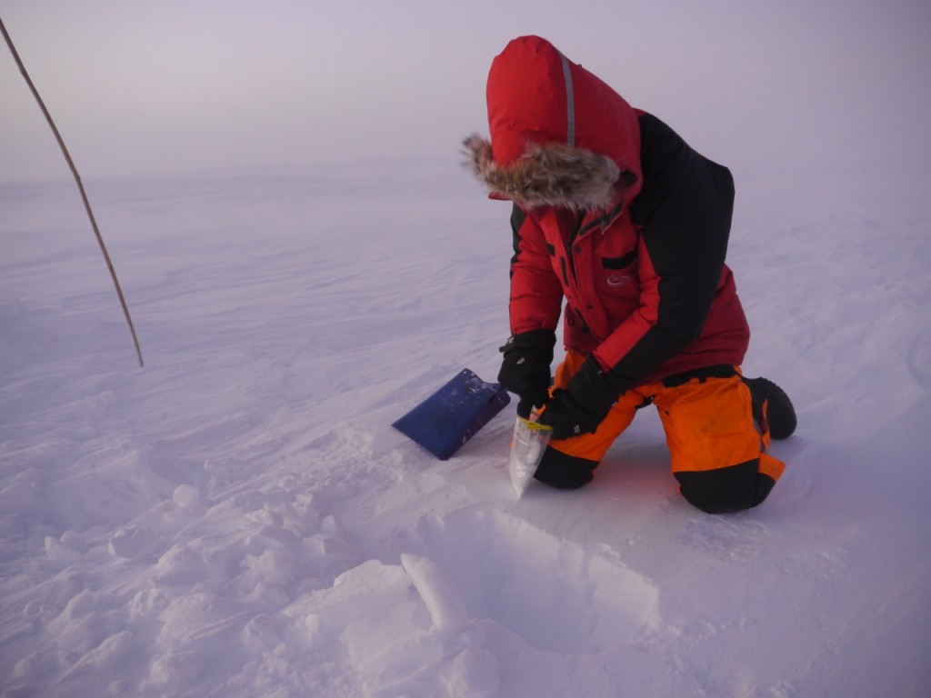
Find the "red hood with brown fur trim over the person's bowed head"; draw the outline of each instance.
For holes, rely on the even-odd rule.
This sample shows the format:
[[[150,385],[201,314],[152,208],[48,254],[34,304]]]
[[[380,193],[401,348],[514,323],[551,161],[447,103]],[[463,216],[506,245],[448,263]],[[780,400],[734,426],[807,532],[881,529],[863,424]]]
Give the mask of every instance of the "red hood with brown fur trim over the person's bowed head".
[[[640,189],[637,114],[539,36],[514,39],[488,75],[492,139],[465,141],[492,196],[524,208],[612,208]]]

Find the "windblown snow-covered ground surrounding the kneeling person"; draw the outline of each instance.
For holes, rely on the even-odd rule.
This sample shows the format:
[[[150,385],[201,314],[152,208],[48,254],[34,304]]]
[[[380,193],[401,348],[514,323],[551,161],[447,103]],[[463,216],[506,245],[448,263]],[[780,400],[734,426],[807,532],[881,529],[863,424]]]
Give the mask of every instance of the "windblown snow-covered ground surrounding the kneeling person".
[[[583,490],[389,424],[506,338],[506,204],[454,162],[0,187],[13,696],[919,696],[931,174],[735,168],[749,375],[799,414],[735,516],[643,410]],[[514,403],[512,403],[513,405]]]

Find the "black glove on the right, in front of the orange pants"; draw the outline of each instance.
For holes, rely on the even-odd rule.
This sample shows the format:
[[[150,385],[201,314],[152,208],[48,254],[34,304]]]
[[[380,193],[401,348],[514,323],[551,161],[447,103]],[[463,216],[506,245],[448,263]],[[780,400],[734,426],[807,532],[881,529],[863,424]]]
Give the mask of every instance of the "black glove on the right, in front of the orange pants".
[[[553,427],[553,438],[594,434],[608,416],[619,396],[611,378],[593,356],[569,381],[565,390],[558,388],[546,403],[540,423]]]

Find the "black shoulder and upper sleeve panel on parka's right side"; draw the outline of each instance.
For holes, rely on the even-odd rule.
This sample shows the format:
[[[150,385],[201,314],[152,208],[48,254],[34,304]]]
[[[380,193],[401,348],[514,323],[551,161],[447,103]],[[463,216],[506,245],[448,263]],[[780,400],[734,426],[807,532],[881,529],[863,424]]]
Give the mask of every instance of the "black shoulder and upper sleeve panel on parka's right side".
[[[730,171],[643,114],[643,186],[630,205],[659,275],[657,320],[620,362],[615,378],[640,380],[701,334],[721,279],[734,209]]]

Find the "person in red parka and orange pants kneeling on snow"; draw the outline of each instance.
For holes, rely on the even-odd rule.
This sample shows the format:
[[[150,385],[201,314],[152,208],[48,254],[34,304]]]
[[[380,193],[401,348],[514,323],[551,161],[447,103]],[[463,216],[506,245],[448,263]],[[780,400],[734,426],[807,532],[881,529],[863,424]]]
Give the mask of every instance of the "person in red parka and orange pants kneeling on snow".
[[[553,426],[535,477],[584,485],[652,403],[689,502],[762,503],[785,469],[770,436],[789,436],[795,415],[774,383],[741,374],[731,173],[540,37],[492,61],[487,97],[491,141],[465,145],[492,197],[513,204],[498,380],[519,413],[542,408]],[[566,356],[550,386],[560,315]]]

